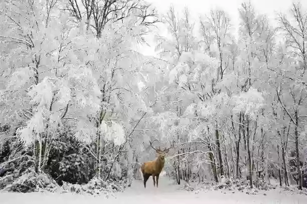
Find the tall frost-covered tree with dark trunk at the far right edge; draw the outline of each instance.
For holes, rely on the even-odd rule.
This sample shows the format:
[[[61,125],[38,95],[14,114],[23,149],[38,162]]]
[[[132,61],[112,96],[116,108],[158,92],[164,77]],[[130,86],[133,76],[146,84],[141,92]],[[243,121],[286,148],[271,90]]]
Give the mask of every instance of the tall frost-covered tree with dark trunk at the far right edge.
[[[286,35],[286,43],[288,53],[287,58],[292,59],[285,70],[280,70],[282,82],[276,89],[278,102],[281,104],[285,113],[289,117],[294,126],[295,135],[295,157],[296,157],[296,182],[298,188],[302,188],[302,174],[301,174],[301,158],[299,148],[299,135],[302,131],[302,122],[305,121],[304,115],[306,109],[307,93],[306,93],[306,36],[307,36],[307,15],[303,11],[301,5],[293,4],[290,10],[290,18],[293,23],[287,20],[285,15],[279,14],[279,29]],[[286,74],[285,74],[286,73]],[[291,109],[289,108],[292,107]]]

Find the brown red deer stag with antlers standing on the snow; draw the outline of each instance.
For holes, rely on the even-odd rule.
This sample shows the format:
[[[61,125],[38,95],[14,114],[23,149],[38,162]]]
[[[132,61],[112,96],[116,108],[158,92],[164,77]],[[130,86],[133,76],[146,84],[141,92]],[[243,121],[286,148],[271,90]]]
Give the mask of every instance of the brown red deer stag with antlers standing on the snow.
[[[164,150],[161,150],[160,147],[159,149],[156,149],[155,147],[152,146],[152,142],[149,141],[149,144],[152,149],[155,149],[156,152],[158,153],[158,157],[153,160],[153,161],[147,161],[144,162],[141,166],[143,178],[144,178],[144,188],[146,188],[146,182],[148,178],[152,175],[152,179],[154,180],[154,186],[156,185],[156,180],[157,180],[157,187],[158,187],[158,182],[159,182],[159,175],[164,167],[165,163],[165,156],[169,152],[169,150],[172,148],[165,148]],[[156,180],[155,180],[156,177]]]

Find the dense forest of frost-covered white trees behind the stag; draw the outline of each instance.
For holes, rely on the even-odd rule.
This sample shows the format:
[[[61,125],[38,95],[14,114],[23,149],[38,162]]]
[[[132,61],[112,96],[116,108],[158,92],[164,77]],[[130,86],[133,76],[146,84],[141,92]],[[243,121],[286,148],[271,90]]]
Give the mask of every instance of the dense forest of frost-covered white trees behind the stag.
[[[307,187],[307,8],[160,14],[143,0],[0,2],[0,190]],[[159,35],[164,25],[167,35]],[[138,52],[155,36],[156,56]],[[79,186],[79,187],[78,187]]]

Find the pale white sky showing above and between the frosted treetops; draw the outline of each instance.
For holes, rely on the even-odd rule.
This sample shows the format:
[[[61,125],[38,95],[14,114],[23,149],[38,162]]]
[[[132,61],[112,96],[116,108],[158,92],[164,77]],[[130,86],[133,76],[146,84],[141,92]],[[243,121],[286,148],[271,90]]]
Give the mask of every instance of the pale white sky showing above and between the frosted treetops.
[[[282,12],[288,14],[293,0],[250,0],[255,8],[255,11],[259,14],[266,14],[271,20],[274,20],[276,12]],[[194,20],[198,21],[199,15],[209,14],[211,9],[222,9],[228,13],[231,23],[237,27],[241,3],[244,0],[147,0],[152,3],[159,13],[166,13],[169,7],[173,4],[175,12],[181,12],[185,6],[190,10],[190,13]],[[307,1],[300,0],[300,3],[304,7],[304,11],[307,9]],[[141,46],[138,51],[144,55],[155,55],[152,36],[146,38],[149,41],[150,47]]]

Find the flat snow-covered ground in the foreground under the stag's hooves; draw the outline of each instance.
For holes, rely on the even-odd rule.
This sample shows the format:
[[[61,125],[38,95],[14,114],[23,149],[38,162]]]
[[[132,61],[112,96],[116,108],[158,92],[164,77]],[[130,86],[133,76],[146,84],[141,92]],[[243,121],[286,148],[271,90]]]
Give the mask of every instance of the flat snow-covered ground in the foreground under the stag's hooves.
[[[83,203],[112,203],[112,204],[135,204],[137,203],[227,203],[227,204],[299,204],[306,203],[307,196],[291,195],[289,193],[279,193],[278,190],[265,191],[267,195],[258,193],[257,195],[248,195],[246,193],[222,193],[221,191],[208,192],[188,192],[178,190],[178,185],[172,184],[168,177],[159,179],[159,188],[154,188],[152,179],[147,181],[147,188],[144,189],[140,181],[134,181],[132,186],[122,193],[116,193],[116,198],[105,199],[99,196],[76,195],[71,193],[52,194],[52,193],[0,193],[0,202],[2,204],[83,204]]]

